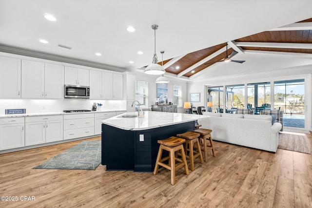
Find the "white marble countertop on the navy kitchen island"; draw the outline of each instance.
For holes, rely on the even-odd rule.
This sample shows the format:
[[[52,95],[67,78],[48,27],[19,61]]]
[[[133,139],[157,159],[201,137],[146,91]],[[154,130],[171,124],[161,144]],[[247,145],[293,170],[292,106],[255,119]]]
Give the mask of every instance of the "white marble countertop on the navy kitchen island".
[[[143,118],[122,118],[120,116],[131,113],[122,113],[120,115],[105,119],[102,121],[103,124],[107,124],[113,127],[117,127],[123,130],[147,130],[154,129],[163,126],[169,126],[173,124],[185,123],[189,121],[195,121],[208,115],[196,115],[186,113],[167,113],[167,112],[156,112],[156,111],[145,111]]]

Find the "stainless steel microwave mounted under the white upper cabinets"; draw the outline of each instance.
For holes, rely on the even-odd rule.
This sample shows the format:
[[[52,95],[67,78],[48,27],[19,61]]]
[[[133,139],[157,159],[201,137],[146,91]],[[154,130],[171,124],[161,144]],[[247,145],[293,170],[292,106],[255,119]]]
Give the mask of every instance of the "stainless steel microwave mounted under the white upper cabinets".
[[[65,98],[89,98],[90,87],[65,84],[64,85],[64,97]]]

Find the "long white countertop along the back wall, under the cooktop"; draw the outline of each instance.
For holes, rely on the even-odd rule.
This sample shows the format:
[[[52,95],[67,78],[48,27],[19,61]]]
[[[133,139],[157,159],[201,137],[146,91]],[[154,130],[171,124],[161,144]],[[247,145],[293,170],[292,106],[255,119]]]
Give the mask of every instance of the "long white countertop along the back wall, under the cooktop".
[[[107,113],[107,112],[120,112],[126,110],[104,110],[104,111],[89,111],[89,112],[77,112],[77,113]],[[12,117],[27,117],[27,116],[40,116],[40,115],[68,115],[77,113],[64,113],[64,112],[49,112],[49,113],[22,113],[22,114],[0,114],[0,118],[12,118]]]

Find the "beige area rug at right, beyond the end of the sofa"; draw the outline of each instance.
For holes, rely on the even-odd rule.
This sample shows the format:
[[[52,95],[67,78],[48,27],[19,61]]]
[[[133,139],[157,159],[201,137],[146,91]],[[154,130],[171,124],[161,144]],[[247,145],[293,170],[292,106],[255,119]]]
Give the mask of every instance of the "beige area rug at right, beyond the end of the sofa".
[[[277,148],[311,154],[307,139],[305,136],[302,135],[280,133],[279,145]]]

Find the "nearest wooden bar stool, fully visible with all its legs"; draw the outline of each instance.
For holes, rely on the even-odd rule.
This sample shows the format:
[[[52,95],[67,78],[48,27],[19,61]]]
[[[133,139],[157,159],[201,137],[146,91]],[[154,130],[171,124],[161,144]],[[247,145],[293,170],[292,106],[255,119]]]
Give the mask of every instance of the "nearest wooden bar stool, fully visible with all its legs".
[[[190,174],[189,169],[187,167],[186,163],[186,157],[185,152],[183,149],[183,143],[185,142],[185,139],[178,138],[175,136],[172,136],[168,139],[158,140],[157,141],[159,146],[159,151],[156,159],[156,166],[154,169],[154,175],[158,173],[159,166],[162,166],[168,170],[171,170],[171,184],[176,184],[176,169],[180,168],[181,166],[184,166],[185,174]],[[169,156],[161,158],[162,151],[166,150],[169,151]],[[177,158],[175,154],[177,151],[180,151],[182,158]],[[169,164],[163,163],[163,161],[169,159]],[[176,161],[180,162],[176,165]]]

